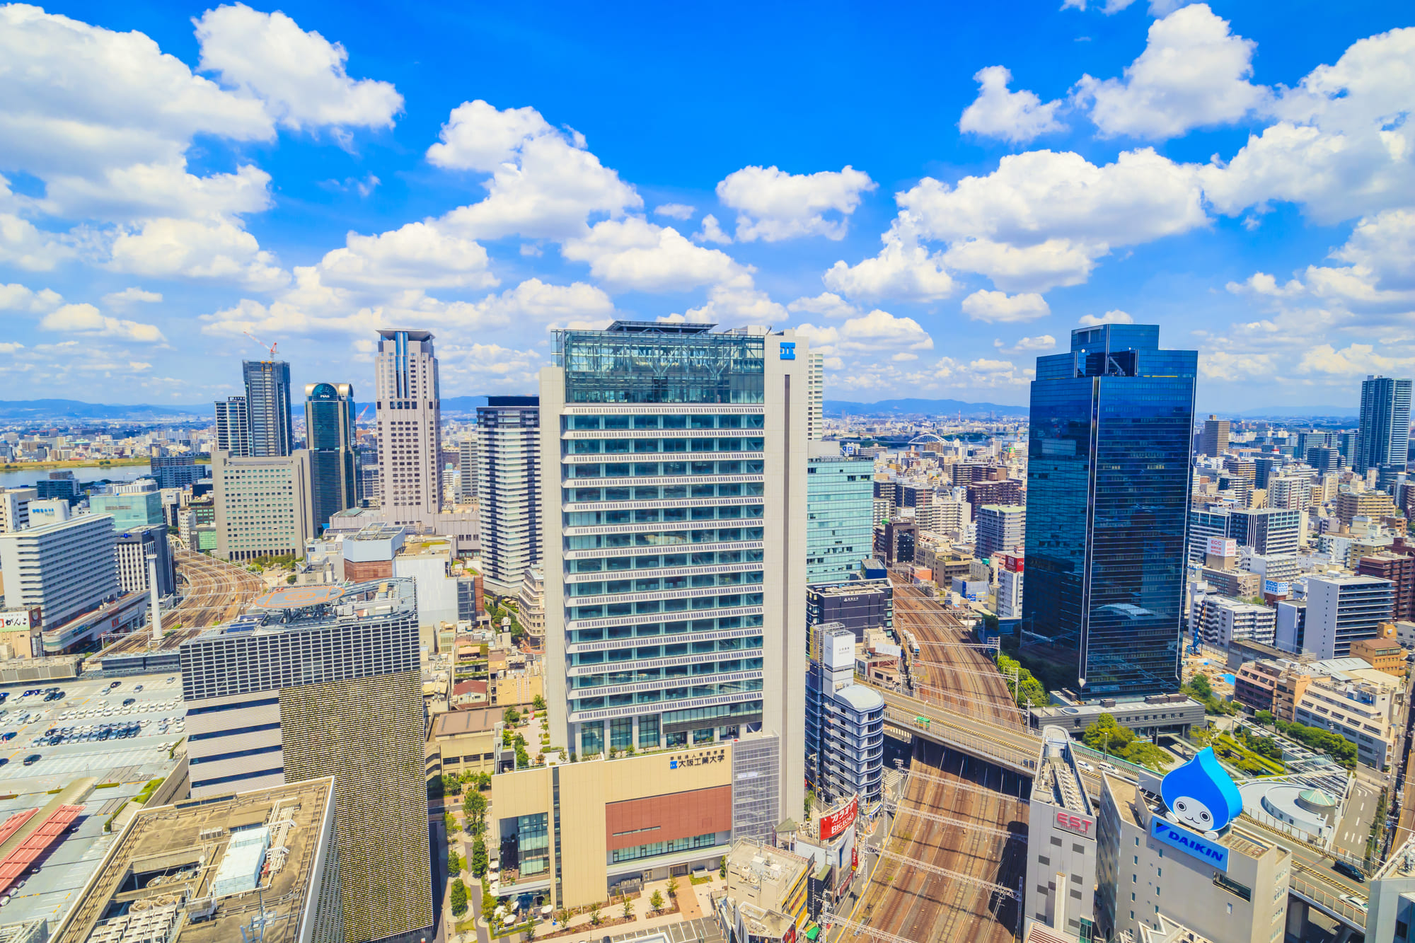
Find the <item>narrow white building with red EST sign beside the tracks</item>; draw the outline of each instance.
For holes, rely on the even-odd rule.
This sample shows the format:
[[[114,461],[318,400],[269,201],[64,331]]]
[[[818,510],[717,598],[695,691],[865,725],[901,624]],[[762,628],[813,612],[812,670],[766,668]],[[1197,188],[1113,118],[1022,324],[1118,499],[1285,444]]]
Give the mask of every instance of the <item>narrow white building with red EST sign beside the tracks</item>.
[[[1032,777],[1023,922],[1091,939],[1095,925],[1097,818],[1065,729],[1041,729]]]

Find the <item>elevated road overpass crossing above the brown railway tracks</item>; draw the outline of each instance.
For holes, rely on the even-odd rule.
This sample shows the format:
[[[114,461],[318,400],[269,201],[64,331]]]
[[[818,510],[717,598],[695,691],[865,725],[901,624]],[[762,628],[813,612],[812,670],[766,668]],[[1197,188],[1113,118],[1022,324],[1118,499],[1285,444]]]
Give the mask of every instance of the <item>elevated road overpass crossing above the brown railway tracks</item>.
[[[859,680],[857,680],[859,681]],[[872,684],[884,698],[884,722],[901,733],[917,736],[948,749],[965,753],[1023,776],[1032,776],[1041,753],[1041,736],[1027,728],[1003,726],[958,711],[920,701],[887,687]],[[1081,743],[1073,750],[1094,766],[1111,766],[1114,777],[1138,782],[1142,766],[1105,756]],[[1112,772],[1114,770],[1114,772]],[[1101,796],[1098,770],[1080,770],[1085,791],[1097,801]],[[1289,892],[1305,906],[1340,920],[1356,932],[1365,930],[1365,885],[1332,871],[1336,857],[1320,845],[1296,838],[1244,814],[1232,824],[1240,834],[1264,845],[1281,845],[1292,855]]]

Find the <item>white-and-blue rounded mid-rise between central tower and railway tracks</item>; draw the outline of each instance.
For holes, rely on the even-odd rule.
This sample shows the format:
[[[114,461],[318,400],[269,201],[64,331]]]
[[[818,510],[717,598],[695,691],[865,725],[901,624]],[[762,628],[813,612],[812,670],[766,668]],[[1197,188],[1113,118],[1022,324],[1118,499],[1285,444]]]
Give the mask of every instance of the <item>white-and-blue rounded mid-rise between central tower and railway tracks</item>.
[[[884,698],[855,684],[855,633],[815,626],[805,678],[807,779],[825,803],[883,794]]]

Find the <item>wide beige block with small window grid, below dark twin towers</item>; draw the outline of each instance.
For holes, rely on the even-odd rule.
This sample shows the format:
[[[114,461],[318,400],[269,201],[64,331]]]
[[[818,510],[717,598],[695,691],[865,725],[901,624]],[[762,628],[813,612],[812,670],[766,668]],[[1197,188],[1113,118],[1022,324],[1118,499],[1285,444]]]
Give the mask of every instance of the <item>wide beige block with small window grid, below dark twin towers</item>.
[[[236,457],[211,456],[216,508],[216,556],[299,556],[314,534],[310,511],[310,453]]]

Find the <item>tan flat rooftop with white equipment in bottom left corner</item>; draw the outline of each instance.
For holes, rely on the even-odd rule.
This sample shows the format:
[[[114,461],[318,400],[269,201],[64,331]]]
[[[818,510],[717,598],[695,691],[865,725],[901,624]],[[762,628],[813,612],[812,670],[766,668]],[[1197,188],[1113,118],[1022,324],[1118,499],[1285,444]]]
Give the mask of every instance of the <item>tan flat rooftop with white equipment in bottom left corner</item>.
[[[294,943],[325,834],[334,779],[144,808],[109,848],[51,943],[229,943],[255,929]],[[260,864],[256,864],[256,861]],[[258,895],[259,891],[259,895]]]

